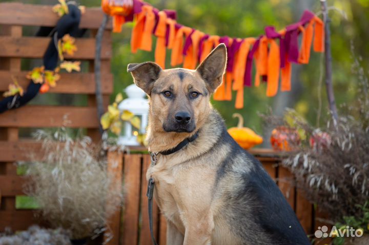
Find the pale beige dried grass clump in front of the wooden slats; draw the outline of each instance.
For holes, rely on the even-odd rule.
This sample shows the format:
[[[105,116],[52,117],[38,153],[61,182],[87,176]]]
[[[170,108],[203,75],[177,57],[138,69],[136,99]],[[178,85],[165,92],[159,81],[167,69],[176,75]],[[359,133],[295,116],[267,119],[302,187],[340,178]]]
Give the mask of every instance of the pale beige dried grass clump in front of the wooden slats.
[[[120,208],[121,188],[111,188],[106,160],[89,137],[72,139],[65,128],[38,130],[44,155],[31,157],[26,193],[36,198],[40,213],[54,228],[70,230],[73,238],[105,231],[106,220]]]

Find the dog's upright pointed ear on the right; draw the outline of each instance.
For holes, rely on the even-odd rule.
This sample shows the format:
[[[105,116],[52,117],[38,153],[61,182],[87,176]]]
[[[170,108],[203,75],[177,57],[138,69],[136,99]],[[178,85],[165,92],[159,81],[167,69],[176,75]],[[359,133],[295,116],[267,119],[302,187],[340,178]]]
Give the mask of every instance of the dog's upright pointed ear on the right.
[[[227,48],[220,43],[198,66],[197,72],[207,83],[210,93],[214,93],[222,82],[224,70],[227,64]]]

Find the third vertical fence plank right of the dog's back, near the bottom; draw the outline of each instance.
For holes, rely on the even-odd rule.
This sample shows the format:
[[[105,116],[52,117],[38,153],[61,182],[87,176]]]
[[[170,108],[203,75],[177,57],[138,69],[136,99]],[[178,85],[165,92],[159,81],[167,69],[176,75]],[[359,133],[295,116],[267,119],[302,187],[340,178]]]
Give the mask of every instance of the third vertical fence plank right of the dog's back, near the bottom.
[[[296,216],[306,234],[314,233],[312,227],[313,205],[306,200],[301,189],[296,191]]]

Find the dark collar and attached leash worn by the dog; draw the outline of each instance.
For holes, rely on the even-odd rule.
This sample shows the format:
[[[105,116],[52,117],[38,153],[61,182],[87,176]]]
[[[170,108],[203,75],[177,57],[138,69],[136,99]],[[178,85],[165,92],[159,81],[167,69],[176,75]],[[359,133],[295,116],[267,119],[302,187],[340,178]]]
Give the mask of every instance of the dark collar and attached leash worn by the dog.
[[[169,149],[169,150],[165,150],[165,151],[160,151],[160,152],[149,152],[150,153],[150,157],[151,157],[151,168],[154,167],[157,163],[157,154],[162,154],[162,155],[169,155],[172,154],[174,152],[177,152],[178,150],[182,149],[183,147],[187,146],[189,143],[193,142],[194,140],[196,140],[198,137],[198,131],[191,136],[190,138],[187,138],[185,140],[183,140],[182,142],[180,142],[176,147]],[[154,245],[158,245],[156,240],[155,240],[155,236],[154,236],[154,230],[153,230],[153,217],[152,217],[152,207],[153,207],[153,194],[154,194],[154,187],[155,187],[155,183],[154,183],[154,179],[152,177],[152,174],[150,174],[150,179],[148,181],[148,189],[146,192],[146,195],[148,197],[148,210],[149,210],[149,227],[150,227],[150,235],[151,235],[151,240],[153,242]]]

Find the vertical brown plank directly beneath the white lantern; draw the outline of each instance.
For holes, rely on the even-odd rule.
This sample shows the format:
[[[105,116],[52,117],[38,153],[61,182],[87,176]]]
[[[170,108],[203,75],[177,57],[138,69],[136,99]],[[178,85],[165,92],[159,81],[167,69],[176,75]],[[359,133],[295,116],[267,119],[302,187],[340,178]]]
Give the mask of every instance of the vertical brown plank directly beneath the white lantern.
[[[138,243],[138,216],[140,199],[141,155],[126,154],[124,158],[124,185],[127,192],[121,244]]]

